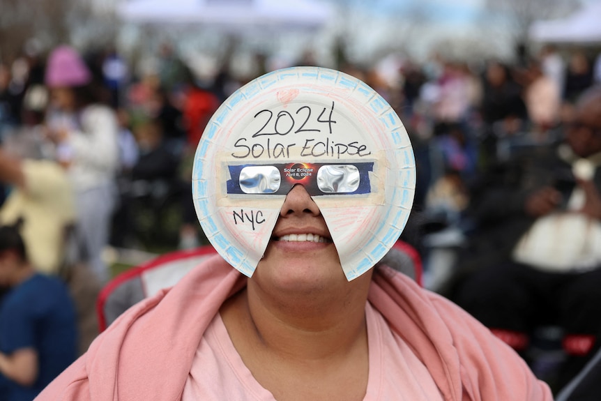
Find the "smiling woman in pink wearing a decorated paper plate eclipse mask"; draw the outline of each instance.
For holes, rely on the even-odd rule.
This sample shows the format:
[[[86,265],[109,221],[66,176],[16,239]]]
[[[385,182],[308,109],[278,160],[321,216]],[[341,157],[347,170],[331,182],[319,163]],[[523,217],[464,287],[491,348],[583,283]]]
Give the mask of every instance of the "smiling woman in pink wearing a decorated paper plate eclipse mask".
[[[551,400],[487,328],[379,263],[414,186],[406,131],[369,86],[324,68],[257,78],[195,156],[219,255],[121,315],[38,400]]]

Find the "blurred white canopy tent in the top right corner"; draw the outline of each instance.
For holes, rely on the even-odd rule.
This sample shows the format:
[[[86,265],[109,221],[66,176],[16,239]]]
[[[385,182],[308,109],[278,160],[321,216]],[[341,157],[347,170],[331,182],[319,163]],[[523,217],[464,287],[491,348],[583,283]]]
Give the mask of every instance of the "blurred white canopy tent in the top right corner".
[[[585,3],[562,20],[534,22],[529,36],[542,43],[601,43],[601,1]]]

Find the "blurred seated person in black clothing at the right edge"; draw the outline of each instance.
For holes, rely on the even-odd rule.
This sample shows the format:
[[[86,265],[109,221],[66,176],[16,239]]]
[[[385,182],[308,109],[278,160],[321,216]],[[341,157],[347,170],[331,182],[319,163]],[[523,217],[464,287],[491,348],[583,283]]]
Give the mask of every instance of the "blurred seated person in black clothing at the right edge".
[[[478,228],[450,296],[515,349],[535,328],[563,328],[556,387],[599,348],[601,324],[601,90],[577,103],[565,142],[539,146],[482,179]],[[459,280],[462,281],[462,280]]]

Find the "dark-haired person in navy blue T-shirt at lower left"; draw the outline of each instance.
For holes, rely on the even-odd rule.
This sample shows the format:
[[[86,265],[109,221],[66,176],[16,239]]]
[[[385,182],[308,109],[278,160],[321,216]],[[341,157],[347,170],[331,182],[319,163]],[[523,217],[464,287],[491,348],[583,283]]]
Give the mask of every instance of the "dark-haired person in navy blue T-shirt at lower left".
[[[0,398],[33,400],[77,356],[75,308],[57,279],[36,273],[15,226],[0,227]]]

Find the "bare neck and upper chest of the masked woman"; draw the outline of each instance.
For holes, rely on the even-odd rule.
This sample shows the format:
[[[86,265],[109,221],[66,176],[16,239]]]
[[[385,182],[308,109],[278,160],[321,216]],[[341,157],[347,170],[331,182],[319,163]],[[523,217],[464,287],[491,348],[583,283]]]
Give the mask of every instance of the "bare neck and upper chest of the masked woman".
[[[340,296],[282,298],[258,292],[251,279],[220,313],[246,367],[277,400],[363,400],[369,282]]]

